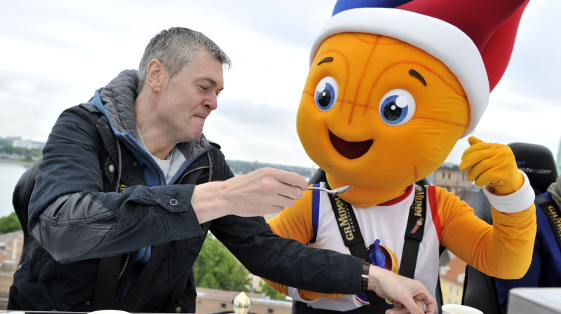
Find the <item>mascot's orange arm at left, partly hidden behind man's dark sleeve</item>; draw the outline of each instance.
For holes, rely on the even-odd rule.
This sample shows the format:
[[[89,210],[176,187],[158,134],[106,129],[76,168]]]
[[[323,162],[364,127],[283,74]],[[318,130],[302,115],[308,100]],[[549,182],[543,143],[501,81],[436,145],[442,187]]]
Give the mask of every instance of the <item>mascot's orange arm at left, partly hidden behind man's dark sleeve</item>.
[[[267,222],[271,226],[273,233],[283,238],[291,238],[299,241],[299,243],[308,244],[313,238],[311,196],[312,191],[305,191],[302,199],[297,200],[294,207],[285,208],[278,215],[269,219]],[[288,287],[285,285],[280,285],[265,278],[263,280],[277,292],[288,295]],[[322,296],[335,299],[341,296],[341,294],[322,294],[302,289],[298,289],[298,292],[300,297],[306,300],[315,300]]]

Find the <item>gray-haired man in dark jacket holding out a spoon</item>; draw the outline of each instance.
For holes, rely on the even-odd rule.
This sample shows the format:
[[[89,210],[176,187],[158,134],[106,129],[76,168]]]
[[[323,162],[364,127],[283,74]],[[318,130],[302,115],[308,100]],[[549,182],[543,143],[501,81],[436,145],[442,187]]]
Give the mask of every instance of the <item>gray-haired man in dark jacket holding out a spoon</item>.
[[[61,114],[29,201],[39,246],[15,272],[8,308],[194,313],[189,271],[211,231],[255,275],[326,293],[367,286],[397,309],[433,313],[417,281],[273,235],[260,216],[294,205],[307,183],[274,169],[234,177],[204,137],[224,65],[203,34],[164,30],[138,72]]]

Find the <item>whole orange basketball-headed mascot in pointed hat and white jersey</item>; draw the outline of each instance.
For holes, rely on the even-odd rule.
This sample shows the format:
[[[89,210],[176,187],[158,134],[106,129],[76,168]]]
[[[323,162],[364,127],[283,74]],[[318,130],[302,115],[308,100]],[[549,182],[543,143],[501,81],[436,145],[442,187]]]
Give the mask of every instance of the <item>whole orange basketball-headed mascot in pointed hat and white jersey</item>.
[[[297,132],[325,172],[316,185],[353,188],[334,198],[307,191],[269,221],[273,232],[356,255],[431,292],[441,246],[487,275],[522,277],[536,233],[534,192],[508,146],[470,137],[459,166],[484,186],[493,226],[450,191],[415,182],[474,130],[506,69],[526,5],[337,1],[311,49]],[[295,313],[393,307],[370,292],[322,294],[267,282],[302,302]]]

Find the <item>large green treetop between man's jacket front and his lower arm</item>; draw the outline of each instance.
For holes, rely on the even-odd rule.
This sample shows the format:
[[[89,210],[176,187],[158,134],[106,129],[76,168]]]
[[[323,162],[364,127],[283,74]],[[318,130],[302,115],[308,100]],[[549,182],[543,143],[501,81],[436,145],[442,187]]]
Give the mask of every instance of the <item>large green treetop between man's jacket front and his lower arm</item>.
[[[248,291],[249,271],[210,233],[195,261],[198,287]]]

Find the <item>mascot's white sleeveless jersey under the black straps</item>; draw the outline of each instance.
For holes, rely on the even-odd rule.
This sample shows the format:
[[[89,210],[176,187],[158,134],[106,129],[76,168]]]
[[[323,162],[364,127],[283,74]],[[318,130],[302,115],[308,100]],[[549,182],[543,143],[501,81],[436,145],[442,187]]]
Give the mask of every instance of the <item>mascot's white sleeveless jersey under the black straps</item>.
[[[325,186],[325,183],[320,183]],[[414,186],[407,189],[407,192],[400,198],[381,205],[371,207],[355,207],[353,212],[356,215],[360,232],[365,241],[365,250],[372,245],[375,240],[380,240],[380,248],[386,255],[386,269],[398,272],[403,245],[405,243],[405,229],[409,217],[410,206],[414,201]],[[316,237],[309,243],[311,247],[321,247],[344,254],[351,254],[349,248],[345,246],[339,226],[333,213],[329,196],[327,193],[313,194],[312,221],[313,230]],[[428,193],[426,193],[428,195]],[[430,198],[429,198],[430,199]],[[428,291],[436,291],[439,269],[439,234],[440,230],[433,223],[433,219],[440,219],[431,202],[426,202],[426,219],[424,220],[423,240],[419,245],[417,256],[417,266],[415,268],[414,279],[423,282]],[[431,206],[433,205],[433,206]],[[437,223],[440,226],[440,222]],[[309,306],[320,309],[330,310],[352,310],[368,304],[365,296],[347,295],[338,299],[323,298],[308,301],[299,297],[297,289],[289,288],[288,292],[292,299],[309,303]]]

